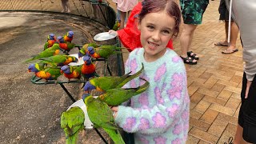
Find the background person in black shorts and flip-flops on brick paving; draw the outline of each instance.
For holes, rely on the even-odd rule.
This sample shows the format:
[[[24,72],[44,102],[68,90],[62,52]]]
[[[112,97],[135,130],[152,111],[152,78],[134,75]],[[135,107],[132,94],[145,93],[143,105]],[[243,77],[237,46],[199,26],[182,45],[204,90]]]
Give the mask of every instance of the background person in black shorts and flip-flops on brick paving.
[[[238,26],[235,24],[231,18],[231,27],[230,27],[230,44],[227,42],[228,38],[228,28],[229,28],[229,10],[227,10],[225,0],[221,0],[218,7],[219,20],[225,21],[225,33],[226,39],[223,42],[214,43],[215,46],[228,46],[226,50],[222,51],[222,54],[232,54],[237,52],[236,42],[238,38]]]

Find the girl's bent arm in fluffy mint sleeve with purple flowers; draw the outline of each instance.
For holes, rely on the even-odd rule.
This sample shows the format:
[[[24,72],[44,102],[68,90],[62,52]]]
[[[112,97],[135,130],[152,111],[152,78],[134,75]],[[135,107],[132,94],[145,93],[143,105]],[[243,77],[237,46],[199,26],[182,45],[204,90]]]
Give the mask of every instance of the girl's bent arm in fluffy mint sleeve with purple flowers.
[[[188,122],[190,100],[183,65],[182,63],[172,66],[172,70],[175,71],[165,75],[165,88],[155,88],[154,97],[158,101],[157,105],[140,109],[118,106],[115,115],[118,126],[129,133],[154,134],[165,132],[170,126],[176,125],[181,118],[184,122]]]

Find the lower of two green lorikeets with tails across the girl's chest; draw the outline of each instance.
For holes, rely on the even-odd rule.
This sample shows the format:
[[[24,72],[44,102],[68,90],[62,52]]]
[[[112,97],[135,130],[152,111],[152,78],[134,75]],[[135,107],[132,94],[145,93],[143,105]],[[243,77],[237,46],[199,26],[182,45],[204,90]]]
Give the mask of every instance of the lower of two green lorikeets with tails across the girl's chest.
[[[97,99],[102,102],[106,102],[108,106],[119,106],[122,102],[126,102],[128,99],[133,97],[134,95],[141,94],[150,86],[150,82],[147,82],[145,79],[140,78],[145,81],[142,86],[138,86],[137,88],[116,88],[111,90],[106,90],[106,93],[98,96]]]

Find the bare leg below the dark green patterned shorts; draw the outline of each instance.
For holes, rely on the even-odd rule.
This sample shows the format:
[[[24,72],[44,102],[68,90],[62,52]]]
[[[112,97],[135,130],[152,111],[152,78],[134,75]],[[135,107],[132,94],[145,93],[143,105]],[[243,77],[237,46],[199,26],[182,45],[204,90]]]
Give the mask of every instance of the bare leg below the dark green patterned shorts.
[[[190,46],[192,42],[192,38],[194,35],[194,30],[197,28],[198,25],[190,25],[190,24],[184,24],[182,34],[180,37],[180,42],[181,42],[181,49],[182,49],[182,54],[181,56],[183,58],[187,57],[187,52],[190,51]],[[197,62],[196,60],[193,60],[193,62]]]

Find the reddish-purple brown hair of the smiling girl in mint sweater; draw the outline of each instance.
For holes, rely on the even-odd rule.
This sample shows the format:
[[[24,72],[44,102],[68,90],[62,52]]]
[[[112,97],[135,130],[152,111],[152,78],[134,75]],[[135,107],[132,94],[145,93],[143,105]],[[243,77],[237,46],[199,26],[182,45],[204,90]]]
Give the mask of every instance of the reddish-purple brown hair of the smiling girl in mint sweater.
[[[166,10],[170,17],[174,18],[175,26],[173,31],[173,38],[178,36],[179,26],[181,23],[181,10],[176,2],[173,0],[144,0],[142,2],[142,11],[138,14],[139,22],[149,13],[155,13]]]

